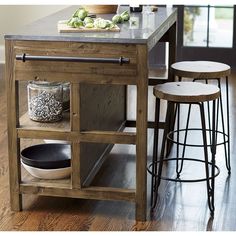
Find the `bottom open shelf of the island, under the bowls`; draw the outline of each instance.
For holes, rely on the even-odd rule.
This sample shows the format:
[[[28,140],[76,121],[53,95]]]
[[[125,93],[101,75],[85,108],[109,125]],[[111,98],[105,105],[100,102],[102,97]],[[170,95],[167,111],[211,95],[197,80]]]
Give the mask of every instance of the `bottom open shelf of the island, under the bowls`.
[[[43,180],[34,178],[22,168],[20,193],[42,196],[118,200],[135,202],[135,148],[133,145],[115,145],[108,154],[104,165],[94,180],[81,189],[72,186],[71,178],[58,180]],[[118,153],[122,155],[118,158]],[[132,152],[132,153],[131,153]],[[129,154],[125,154],[129,153]],[[109,178],[113,173],[113,178]],[[123,175],[120,175],[120,173]]]

